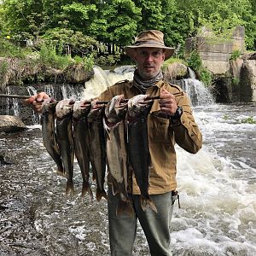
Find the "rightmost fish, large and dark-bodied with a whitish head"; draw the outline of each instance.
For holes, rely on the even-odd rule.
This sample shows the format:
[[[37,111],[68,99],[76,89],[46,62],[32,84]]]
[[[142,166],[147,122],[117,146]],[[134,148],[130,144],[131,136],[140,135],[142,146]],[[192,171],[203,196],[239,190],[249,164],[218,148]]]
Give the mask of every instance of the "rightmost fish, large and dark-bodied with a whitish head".
[[[129,162],[141,191],[143,211],[149,206],[154,212],[157,212],[154,201],[148,195],[151,161],[148,146],[147,119],[154,101],[147,98],[148,95],[137,95],[128,101],[126,116],[128,130],[127,145]]]

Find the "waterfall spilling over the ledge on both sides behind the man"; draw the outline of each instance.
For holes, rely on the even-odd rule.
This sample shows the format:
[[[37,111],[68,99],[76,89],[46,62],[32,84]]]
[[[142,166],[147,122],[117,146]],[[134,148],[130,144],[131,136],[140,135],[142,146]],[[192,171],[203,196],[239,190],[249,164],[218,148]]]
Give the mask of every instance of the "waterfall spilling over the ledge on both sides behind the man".
[[[99,96],[121,80],[132,80],[135,67],[122,66],[113,70],[103,70],[101,67],[93,67],[94,76],[84,84],[34,84],[29,86],[7,86],[7,94],[34,95],[44,91],[49,96],[59,101],[72,98],[73,100],[91,99]],[[179,85],[186,91],[191,99],[192,106],[205,106],[214,102],[210,91],[199,80],[195,79],[195,73],[189,69],[189,79],[172,80],[172,84]],[[37,124],[38,114],[32,111],[31,107],[24,106],[22,101],[17,99],[4,99],[0,102],[0,114],[14,114],[25,120],[25,123]]]

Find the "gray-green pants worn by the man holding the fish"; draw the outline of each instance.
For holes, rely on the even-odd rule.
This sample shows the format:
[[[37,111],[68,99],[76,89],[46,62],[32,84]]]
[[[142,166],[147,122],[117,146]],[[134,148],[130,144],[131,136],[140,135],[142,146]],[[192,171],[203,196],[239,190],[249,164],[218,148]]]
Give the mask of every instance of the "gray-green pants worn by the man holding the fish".
[[[132,248],[137,233],[137,218],[147,238],[151,255],[172,255],[170,224],[173,203],[177,195],[172,196],[172,192],[161,195],[150,195],[158,212],[152,211],[149,207],[143,211],[140,204],[140,195],[131,195],[135,212],[132,218],[125,214],[116,216],[119,195],[113,196],[111,189],[109,189],[108,196],[108,224],[111,255],[132,255]]]

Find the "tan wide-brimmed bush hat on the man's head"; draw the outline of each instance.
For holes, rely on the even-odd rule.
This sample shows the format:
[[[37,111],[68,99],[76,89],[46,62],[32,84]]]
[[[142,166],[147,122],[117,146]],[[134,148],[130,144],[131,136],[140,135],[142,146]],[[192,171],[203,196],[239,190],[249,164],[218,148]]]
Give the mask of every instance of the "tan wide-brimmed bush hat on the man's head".
[[[125,47],[125,52],[133,58],[135,49],[142,47],[165,49],[166,59],[170,58],[174,52],[174,48],[166,47],[164,43],[164,34],[158,30],[147,30],[141,32],[137,38],[135,38],[134,45]]]

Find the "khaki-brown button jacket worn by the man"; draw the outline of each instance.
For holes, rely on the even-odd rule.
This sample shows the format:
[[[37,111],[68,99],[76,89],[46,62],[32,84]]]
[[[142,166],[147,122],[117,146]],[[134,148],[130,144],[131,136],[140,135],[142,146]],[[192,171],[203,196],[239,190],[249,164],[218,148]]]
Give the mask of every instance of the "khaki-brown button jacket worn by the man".
[[[159,96],[160,88],[165,88],[172,94],[182,91],[177,85],[160,80],[149,88],[146,94]],[[99,99],[108,101],[113,96],[121,94],[125,98],[131,98],[141,93],[131,81],[125,80],[113,84],[113,86],[102,92]],[[149,195],[163,194],[177,188],[175,143],[192,154],[195,154],[202,146],[201,131],[195,124],[188,96],[186,94],[177,96],[176,101],[177,105],[183,108],[183,115],[177,125],[172,125],[169,119],[160,118],[156,114],[156,111],[160,110],[158,101],[154,101],[148,115],[148,141],[152,164],[149,172]],[[134,173],[132,173],[129,180],[129,192],[134,195],[140,195],[140,189]]]

